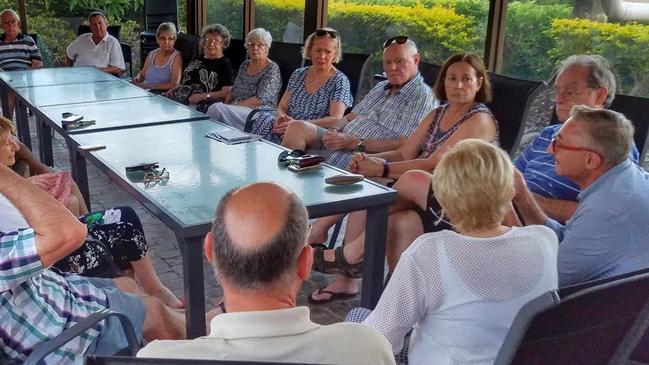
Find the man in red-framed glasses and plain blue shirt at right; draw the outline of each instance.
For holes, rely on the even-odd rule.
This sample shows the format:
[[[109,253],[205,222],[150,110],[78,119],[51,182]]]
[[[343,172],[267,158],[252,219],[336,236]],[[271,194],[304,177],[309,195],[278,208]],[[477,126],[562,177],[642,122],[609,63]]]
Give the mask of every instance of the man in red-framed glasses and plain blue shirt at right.
[[[556,174],[581,189],[564,225],[536,204],[520,172],[514,204],[526,224],[545,224],[559,238],[559,286],[622,275],[649,266],[649,175],[629,158],[633,125],[624,115],[583,105],[549,144]]]

